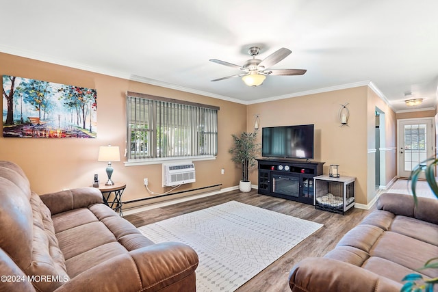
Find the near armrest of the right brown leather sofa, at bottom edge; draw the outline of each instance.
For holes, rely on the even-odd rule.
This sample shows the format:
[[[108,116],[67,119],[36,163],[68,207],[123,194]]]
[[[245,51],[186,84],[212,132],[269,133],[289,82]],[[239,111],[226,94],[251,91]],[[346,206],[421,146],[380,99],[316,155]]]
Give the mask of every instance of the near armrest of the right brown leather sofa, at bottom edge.
[[[398,292],[402,284],[332,258],[305,258],[289,274],[292,292]]]

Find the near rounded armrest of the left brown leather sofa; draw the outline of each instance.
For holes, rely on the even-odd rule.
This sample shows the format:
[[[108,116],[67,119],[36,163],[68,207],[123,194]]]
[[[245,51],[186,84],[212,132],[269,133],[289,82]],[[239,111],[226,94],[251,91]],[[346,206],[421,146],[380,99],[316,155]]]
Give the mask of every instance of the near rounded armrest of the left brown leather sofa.
[[[196,267],[198,255],[190,246],[158,243],[115,256],[55,291],[195,291]]]

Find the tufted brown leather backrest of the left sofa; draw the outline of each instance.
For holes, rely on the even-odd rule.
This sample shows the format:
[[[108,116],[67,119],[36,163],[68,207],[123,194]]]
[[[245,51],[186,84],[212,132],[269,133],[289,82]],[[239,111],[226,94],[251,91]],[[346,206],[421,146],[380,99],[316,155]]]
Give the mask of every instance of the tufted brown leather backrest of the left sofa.
[[[70,280],[50,210],[30,190],[23,170],[8,161],[0,161],[0,234],[0,249],[34,279],[38,291],[53,291]]]

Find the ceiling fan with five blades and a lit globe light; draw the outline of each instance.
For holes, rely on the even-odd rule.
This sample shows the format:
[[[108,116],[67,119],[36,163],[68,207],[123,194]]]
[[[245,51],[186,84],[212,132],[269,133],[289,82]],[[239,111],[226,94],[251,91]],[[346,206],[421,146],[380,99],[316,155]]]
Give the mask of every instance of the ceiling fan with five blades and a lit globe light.
[[[244,83],[248,86],[259,86],[266,79],[267,75],[303,75],[307,70],[302,69],[268,69],[271,66],[274,66],[282,59],[287,57],[292,51],[289,49],[281,48],[271,55],[268,55],[265,59],[256,59],[255,57],[259,55],[260,48],[259,47],[250,47],[248,49],[248,53],[253,56],[253,59],[248,59],[243,66],[231,64],[229,62],[224,62],[219,59],[210,59],[211,62],[218,63],[221,65],[229,66],[231,68],[237,68],[239,70],[244,71],[242,74],[232,75],[227,77],[222,77],[218,79],[214,79],[211,81],[220,81],[224,79],[229,79],[233,77],[242,77]]]

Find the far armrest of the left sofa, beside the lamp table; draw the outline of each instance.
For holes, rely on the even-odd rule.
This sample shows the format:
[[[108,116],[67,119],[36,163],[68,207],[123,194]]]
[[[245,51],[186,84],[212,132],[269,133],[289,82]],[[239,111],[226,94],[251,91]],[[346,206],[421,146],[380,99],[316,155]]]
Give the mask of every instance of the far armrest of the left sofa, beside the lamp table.
[[[52,215],[103,202],[101,191],[94,187],[66,189],[65,191],[44,194],[40,198],[50,209]]]

